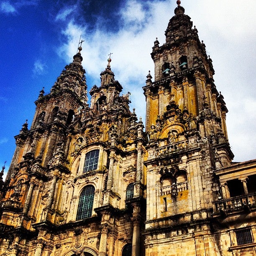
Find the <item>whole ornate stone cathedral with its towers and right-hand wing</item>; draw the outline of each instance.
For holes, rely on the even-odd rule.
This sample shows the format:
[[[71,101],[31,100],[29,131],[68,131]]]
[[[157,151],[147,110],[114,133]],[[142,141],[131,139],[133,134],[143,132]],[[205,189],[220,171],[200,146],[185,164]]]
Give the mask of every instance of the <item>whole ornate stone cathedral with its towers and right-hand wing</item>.
[[[0,180],[0,255],[256,255],[256,160],[232,162],[212,60],[177,4],[145,125],[110,58],[88,102],[81,46],[41,90]]]

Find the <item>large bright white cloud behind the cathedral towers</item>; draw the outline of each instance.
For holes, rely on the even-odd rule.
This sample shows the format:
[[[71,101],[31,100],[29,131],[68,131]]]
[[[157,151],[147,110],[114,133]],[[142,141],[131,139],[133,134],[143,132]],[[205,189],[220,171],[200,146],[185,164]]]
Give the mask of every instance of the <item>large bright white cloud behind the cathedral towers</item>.
[[[87,77],[93,81],[88,84],[90,90],[93,84],[100,84],[100,72],[105,69],[108,54],[112,52],[111,68],[115,79],[123,85],[123,93],[131,92],[130,107],[135,107],[138,117],[143,116],[145,120],[146,104],[141,87],[145,85],[148,70],[154,77],[150,53],[156,37],[160,45],[164,44],[164,32],[176,5],[170,4],[169,0],[142,3],[143,7],[140,1],[127,1],[120,12],[124,26],[117,33],[105,32],[100,26],[91,32],[86,26],[70,22],[63,31],[67,44],[61,48],[61,55],[65,53],[66,61],[70,62],[82,34],[85,40],[82,45],[83,66]],[[185,14],[192,17],[200,40],[204,40],[213,60],[215,84],[222,91],[229,109],[228,134],[236,154],[235,161],[255,158],[256,80],[253,74],[256,31],[253,28],[256,27],[256,2],[182,0],[182,6]],[[145,18],[145,15],[150,18]],[[239,147],[241,142],[244,143]]]

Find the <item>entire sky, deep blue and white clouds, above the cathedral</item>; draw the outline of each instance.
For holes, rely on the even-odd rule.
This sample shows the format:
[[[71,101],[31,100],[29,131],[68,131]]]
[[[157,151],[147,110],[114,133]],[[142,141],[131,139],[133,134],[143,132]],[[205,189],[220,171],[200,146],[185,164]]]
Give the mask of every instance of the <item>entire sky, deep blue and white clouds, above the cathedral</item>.
[[[182,0],[213,60],[215,84],[228,107],[229,141],[234,161],[254,159],[256,152],[256,3],[253,0]],[[130,107],[145,115],[150,53],[155,38],[174,15],[176,0],[0,0],[0,164],[6,170],[22,124],[33,119],[34,101],[46,93],[72,61],[82,34],[82,64],[88,89],[100,84],[100,72],[111,56],[111,68],[131,92]],[[89,91],[88,90],[88,91]]]

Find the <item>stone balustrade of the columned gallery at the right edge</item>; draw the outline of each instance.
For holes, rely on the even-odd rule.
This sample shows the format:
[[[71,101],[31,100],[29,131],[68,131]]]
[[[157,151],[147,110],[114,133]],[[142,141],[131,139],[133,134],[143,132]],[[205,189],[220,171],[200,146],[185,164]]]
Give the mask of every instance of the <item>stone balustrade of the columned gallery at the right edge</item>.
[[[212,202],[212,204],[214,215],[228,215],[228,213],[243,211],[251,212],[256,210],[256,193],[221,199]]]

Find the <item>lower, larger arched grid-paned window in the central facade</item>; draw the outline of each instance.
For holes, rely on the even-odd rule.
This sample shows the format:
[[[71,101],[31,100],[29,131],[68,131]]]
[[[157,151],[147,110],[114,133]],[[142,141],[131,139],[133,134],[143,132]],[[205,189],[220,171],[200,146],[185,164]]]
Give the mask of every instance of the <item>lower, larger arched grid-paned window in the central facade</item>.
[[[77,209],[77,220],[82,220],[92,216],[92,206],[95,188],[92,185],[84,187],[82,190]]]

